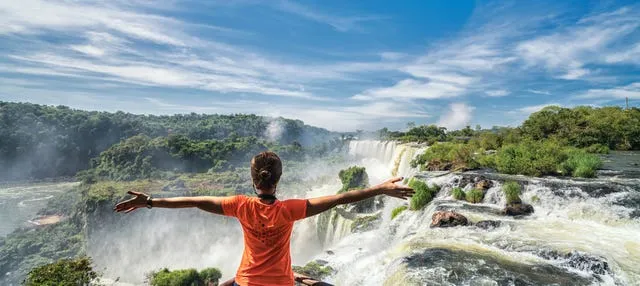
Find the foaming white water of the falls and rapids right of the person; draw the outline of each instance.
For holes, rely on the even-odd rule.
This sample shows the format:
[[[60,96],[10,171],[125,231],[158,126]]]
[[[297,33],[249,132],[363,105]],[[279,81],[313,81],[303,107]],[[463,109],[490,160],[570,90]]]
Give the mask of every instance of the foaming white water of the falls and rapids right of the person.
[[[416,172],[409,162],[420,148],[380,141],[353,141],[349,147],[349,154],[367,168],[371,183],[394,172],[404,176]],[[518,283],[523,285],[640,285],[640,221],[633,218],[638,210],[625,206],[625,202],[640,201],[637,187],[591,196],[583,191],[588,182],[581,185],[565,180],[564,187],[548,187],[542,180],[519,179],[527,184],[523,200],[536,209],[531,216],[498,214],[505,203],[499,181],[493,181],[484,203],[471,205],[451,198],[451,188],[459,184],[460,175],[429,177],[423,180],[443,188],[425,209],[405,211],[390,220],[391,209],[401,202],[387,198],[384,219],[376,229],[334,235],[339,240],[325,245],[332,251],[314,258],[329,261],[336,269],[328,280],[337,285],[501,285],[514,281],[504,280],[507,278],[521,279]],[[431,214],[443,208],[457,210],[472,222],[497,220],[502,225],[491,231],[430,228]],[[409,266],[409,257],[421,257],[425,251],[431,252],[413,260],[424,265]],[[468,260],[458,262],[465,257]]]

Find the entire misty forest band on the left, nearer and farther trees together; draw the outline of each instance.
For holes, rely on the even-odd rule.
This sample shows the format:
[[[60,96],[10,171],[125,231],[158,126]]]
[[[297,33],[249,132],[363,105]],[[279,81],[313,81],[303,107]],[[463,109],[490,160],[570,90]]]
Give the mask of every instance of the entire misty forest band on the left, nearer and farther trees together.
[[[278,131],[276,140],[269,129]],[[301,156],[302,148],[327,152],[340,143],[332,141],[337,137],[299,120],[257,115],[135,115],[0,102],[0,180],[69,177],[114,164],[122,166],[105,177],[218,170],[247,162],[235,155],[268,148],[289,157]],[[151,161],[159,163],[154,170],[148,168]]]

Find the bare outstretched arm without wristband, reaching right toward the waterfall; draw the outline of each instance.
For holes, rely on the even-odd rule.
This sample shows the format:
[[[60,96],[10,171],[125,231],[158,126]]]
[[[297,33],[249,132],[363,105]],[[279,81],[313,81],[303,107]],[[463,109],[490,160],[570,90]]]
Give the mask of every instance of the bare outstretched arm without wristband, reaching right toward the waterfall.
[[[406,200],[413,196],[414,191],[412,188],[397,185],[396,183],[400,181],[402,181],[402,177],[397,177],[364,190],[349,191],[337,195],[308,199],[306,217],[317,215],[338,205],[355,203],[377,195],[384,194]]]

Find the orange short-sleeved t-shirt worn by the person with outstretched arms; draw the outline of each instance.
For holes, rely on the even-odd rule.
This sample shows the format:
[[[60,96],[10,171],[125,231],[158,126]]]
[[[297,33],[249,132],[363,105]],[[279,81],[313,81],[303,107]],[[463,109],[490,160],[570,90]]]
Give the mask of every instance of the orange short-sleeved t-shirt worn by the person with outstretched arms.
[[[227,197],[224,215],[238,218],[244,232],[244,253],[236,273],[240,286],[294,285],[289,243],[296,220],[307,213],[307,200],[265,204],[259,198]]]

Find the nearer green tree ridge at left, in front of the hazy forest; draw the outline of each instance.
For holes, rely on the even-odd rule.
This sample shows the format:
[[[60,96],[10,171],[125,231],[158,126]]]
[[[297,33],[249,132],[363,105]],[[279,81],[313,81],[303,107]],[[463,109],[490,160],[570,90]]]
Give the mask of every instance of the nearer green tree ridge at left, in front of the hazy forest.
[[[340,139],[314,147],[270,143],[255,136],[230,136],[217,140],[194,140],[183,135],[150,138],[136,135],[125,139],[92,160],[92,168],[79,173],[85,182],[101,179],[130,181],[172,177],[178,173],[220,172],[249,167],[251,158],[272,150],[284,160],[325,156],[342,147]]]

